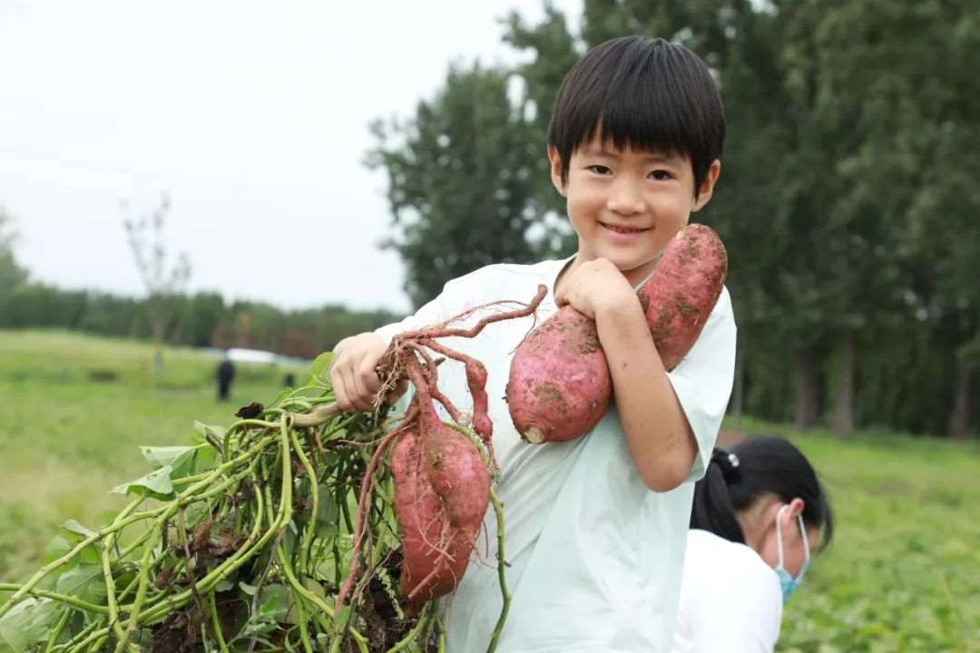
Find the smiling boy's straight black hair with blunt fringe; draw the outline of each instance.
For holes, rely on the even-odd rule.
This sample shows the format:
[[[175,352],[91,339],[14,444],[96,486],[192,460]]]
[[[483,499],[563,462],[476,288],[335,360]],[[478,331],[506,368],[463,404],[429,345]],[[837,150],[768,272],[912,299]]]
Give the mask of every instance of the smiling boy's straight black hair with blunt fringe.
[[[564,76],[548,127],[563,182],[571,155],[597,130],[618,149],[686,155],[697,196],[721,156],[725,112],[697,55],[662,38],[624,36],[596,46]]]

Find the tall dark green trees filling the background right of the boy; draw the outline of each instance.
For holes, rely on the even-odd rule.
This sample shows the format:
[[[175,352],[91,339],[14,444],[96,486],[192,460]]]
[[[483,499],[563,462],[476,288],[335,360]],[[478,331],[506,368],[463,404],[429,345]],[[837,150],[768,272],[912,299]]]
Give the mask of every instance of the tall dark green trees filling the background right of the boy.
[[[514,72],[525,119],[501,129],[531,144],[515,164],[532,171],[524,207],[539,228],[564,216],[543,150],[565,71],[616,36],[681,42],[711,68],[728,118],[721,181],[695,217],[729,251],[738,407],[842,434],[970,431],[980,404],[980,7],[586,0],[580,24],[573,33],[547,3],[538,23],[505,22],[505,42],[524,56]],[[455,129],[447,124],[448,140]],[[429,165],[411,152],[404,174]],[[435,197],[422,178],[432,183],[417,179],[417,205]],[[442,229],[471,225],[471,210],[442,213]],[[454,276],[427,273],[435,290]]]

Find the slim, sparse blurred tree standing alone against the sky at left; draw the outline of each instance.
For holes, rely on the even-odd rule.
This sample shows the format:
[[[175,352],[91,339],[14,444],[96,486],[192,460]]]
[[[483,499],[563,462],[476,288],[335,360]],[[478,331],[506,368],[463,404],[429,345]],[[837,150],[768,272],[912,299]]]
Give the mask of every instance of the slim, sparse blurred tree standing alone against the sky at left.
[[[180,309],[176,296],[183,293],[190,280],[190,260],[181,253],[172,263],[168,260],[164,227],[171,210],[170,197],[165,193],[160,206],[139,218],[124,217],[123,229],[132,251],[139,278],[146,289],[146,311],[153,341],[159,346]],[[123,202],[123,213],[129,212]]]

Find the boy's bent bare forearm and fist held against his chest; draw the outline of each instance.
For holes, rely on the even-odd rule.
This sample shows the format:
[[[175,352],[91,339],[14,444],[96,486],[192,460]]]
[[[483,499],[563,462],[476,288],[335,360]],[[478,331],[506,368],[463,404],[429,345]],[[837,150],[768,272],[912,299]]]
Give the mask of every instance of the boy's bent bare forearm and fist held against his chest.
[[[596,320],[630,455],[647,487],[673,490],[691,475],[698,440],[663,369],[636,292],[612,262],[600,258],[579,266],[558,300]]]

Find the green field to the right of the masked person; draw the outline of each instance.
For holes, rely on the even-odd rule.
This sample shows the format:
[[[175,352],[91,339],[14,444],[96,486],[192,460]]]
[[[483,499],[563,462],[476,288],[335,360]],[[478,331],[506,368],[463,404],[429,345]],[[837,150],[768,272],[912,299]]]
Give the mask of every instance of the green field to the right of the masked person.
[[[778,650],[980,651],[980,445],[744,420],[808,456],[835,534],[786,604]]]

